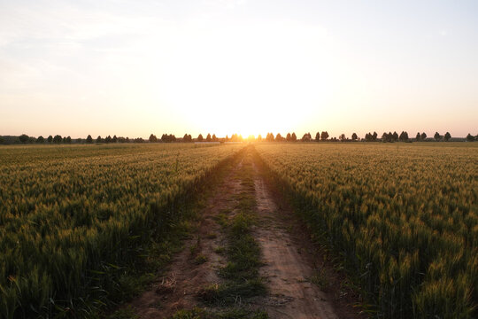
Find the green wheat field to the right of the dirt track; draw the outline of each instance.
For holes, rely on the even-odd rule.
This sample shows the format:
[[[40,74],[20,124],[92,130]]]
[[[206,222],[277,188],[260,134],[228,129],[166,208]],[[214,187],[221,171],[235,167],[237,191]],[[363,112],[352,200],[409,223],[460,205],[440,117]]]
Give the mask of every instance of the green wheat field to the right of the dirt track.
[[[385,318],[478,307],[476,144],[256,144]]]

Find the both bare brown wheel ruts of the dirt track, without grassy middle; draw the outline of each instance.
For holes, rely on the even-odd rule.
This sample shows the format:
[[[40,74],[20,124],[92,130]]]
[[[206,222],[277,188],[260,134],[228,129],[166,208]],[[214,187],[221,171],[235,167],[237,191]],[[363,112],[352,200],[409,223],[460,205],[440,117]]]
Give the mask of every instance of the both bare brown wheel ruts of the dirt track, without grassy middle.
[[[254,158],[251,151],[246,156]],[[291,209],[278,198],[277,193],[270,190],[260,165],[255,163],[253,167],[255,190],[251,191],[257,201],[258,215],[258,226],[253,233],[261,246],[265,265],[260,269],[260,275],[265,277],[269,293],[266,297],[251,300],[251,304],[265,308],[270,318],[363,317],[357,315],[357,310],[348,301],[336,297],[336,289],[329,289],[326,293],[317,284],[312,284],[317,261],[312,253],[307,253],[311,244],[305,243],[306,237],[291,234]],[[140,318],[167,318],[177,310],[201,306],[197,293],[204,286],[220,283],[217,271],[225,261],[216,253],[216,248],[224,245],[224,238],[215,217],[223,212],[234,214],[234,195],[244,191],[237,179],[241,169],[242,161],[232,168],[208,199],[197,234],[185,243],[186,249],[173,259],[168,274],[132,301],[131,306]],[[281,202],[279,205],[278,201]],[[283,218],[281,214],[288,214],[288,218]],[[295,226],[296,230],[300,227],[297,222]],[[199,254],[204,255],[204,263],[195,262]],[[337,278],[330,283],[337,284]]]

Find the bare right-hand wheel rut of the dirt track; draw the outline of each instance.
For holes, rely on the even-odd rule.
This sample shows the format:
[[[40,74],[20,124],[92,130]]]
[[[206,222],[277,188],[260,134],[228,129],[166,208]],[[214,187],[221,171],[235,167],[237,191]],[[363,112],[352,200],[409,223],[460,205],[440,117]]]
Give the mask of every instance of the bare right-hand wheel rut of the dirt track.
[[[313,269],[283,220],[277,218],[274,198],[260,175],[256,175],[255,188],[261,225],[257,236],[266,262],[261,270],[270,290],[267,313],[272,318],[338,318],[326,294],[308,279],[314,275]]]

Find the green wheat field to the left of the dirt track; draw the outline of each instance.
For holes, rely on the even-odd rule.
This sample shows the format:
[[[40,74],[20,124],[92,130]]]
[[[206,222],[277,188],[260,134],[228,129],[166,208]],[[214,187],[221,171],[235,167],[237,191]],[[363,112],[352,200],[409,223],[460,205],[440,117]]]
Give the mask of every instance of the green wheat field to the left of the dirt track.
[[[1,147],[0,317],[103,304],[138,247],[241,147]]]

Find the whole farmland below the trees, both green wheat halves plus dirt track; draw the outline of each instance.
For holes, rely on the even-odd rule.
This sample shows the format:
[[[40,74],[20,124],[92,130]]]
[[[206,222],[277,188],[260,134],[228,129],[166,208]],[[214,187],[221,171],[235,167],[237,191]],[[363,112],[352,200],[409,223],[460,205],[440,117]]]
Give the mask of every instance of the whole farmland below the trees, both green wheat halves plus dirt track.
[[[472,318],[476,159],[472,143],[1,147],[0,318],[96,318],[118,293],[133,300],[101,316]],[[187,249],[148,256],[204,187]],[[150,258],[170,266],[129,291]]]

